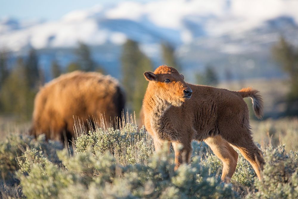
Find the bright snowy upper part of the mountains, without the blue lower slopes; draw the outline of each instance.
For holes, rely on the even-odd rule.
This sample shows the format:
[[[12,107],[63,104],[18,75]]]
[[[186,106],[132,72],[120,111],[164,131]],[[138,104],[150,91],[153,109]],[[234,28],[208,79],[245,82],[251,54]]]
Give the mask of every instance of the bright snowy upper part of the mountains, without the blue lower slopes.
[[[0,45],[17,51],[27,45],[37,49],[73,47],[78,40],[91,45],[122,44],[126,38],[141,43],[166,40],[180,45],[201,36],[241,36],[281,16],[291,18],[295,24],[298,1],[125,1],[76,10],[58,21],[3,19]],[[285,28],[271,24],[274,25]]]

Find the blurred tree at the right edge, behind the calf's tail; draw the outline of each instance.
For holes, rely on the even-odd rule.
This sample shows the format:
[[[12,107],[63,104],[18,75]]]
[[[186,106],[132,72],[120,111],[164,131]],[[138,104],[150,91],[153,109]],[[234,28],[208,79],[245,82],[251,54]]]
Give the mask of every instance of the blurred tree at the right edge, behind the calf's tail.
[[[298,115],[298,48],[289,44],[281,37],[278,44],[272,48],[274,59],[282,70],[288,73],[290,92],[287,96],[287,114]]]

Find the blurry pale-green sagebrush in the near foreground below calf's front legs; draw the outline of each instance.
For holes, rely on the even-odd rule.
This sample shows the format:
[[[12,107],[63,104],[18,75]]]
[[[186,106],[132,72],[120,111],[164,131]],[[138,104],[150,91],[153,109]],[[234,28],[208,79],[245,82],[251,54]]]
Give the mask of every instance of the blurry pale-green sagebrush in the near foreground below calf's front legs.
[[[32,163],[29,175],[18,173],[28,198],[228,198],[236,197],[231,184],[210,177],[195,158],[174,172],[173,157],[154,154],[148,165],[120,166],[109,153],[87,149],[74,156],[58,156],[65,167]],[[36,154],[38,157],[39,154]],[[34,161],[36,158],[32,158]]]

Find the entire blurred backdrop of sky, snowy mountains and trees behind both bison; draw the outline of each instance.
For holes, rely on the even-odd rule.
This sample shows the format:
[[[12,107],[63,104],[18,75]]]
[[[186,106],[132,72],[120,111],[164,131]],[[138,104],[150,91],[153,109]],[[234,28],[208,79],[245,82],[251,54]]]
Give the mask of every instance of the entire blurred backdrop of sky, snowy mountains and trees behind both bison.
[[[138,115],[143,72],[162,64],[192,84],[260,90],[265,119],[297,116],[297,33],[291,0],[1,1],[0,123],[30,121],[39,87],[74,70],[117,78]]]

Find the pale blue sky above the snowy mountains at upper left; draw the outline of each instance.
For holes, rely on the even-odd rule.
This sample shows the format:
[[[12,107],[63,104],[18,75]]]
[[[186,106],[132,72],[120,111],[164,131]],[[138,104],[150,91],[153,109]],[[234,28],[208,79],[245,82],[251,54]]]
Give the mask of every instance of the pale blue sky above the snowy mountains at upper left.
[[[124,0],[0,0],[0,18],[57,20],[73,10],[121,1]]]

